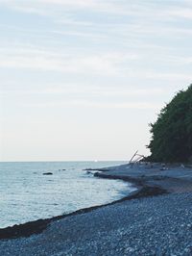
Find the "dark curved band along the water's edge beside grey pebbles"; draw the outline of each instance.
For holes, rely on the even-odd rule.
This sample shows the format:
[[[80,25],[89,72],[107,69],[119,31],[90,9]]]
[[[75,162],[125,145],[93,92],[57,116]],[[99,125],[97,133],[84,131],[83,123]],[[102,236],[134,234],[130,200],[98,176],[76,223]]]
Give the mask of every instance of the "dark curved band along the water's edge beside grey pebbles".
[[[37,220],[22,223],[22,224],[15,224],[11,227],[9,226],[6,228],[0,228],[0,240],[10,240],[10,239],[18,239],[22,237],[30,237],[32,235],[37,235],[42,233],[49,226],[49,224],[51,224],[53,221],[57,221],[62,218],[82,215],[82,214],[94,211],[96,209],[103,208],[116,203],[120,203],[126,200],[132,200],[132,199],[138,199],[142,197],[156,196],[160,194],[169,193],[167,190],[162,189],[160,186],[147,185],[143,180],[139,178],[132,178],[128,176],[127,177],[116,176],[116,175],[106,176],[106,175],[103,175],[102,172],[96,172],[94,173],[94,176],[99,178],[119,179],[126,182],[130,182],[133,185],[135,185],[137,190],[130,192],[127,196],[124,196],[119,200],[115,200],[107,204],[91,206],[88,208],[77,210],[75,212],[72,212],[66,215],[60,215],[53,218],[40,218]]]

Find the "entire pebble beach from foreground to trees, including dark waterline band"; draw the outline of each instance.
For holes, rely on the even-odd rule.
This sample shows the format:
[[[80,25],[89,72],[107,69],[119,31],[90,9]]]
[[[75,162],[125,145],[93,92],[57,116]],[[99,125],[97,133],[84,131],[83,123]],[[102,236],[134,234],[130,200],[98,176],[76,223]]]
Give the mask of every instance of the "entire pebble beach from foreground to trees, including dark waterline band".
[[[191,255],[191,168],[125,165],[94,175],[132,182],[137,191],[108,205],[2,229],[1,255]]]

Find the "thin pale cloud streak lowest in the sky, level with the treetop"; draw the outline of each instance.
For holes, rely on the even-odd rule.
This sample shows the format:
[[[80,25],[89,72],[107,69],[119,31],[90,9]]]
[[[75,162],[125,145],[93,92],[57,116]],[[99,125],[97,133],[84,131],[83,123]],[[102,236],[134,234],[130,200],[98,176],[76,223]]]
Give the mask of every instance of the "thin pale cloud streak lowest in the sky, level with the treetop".
[[[12,85],[14,85],[12,81]],[[98,98],[101,97],[136,97],[136,96],[156,96],[159,94],[163,94],[163,90],[159,88],[144,88],[144,89],[138,89],[133,88],[129,86],[113,86],[110,87],[108,85],[87,85],[84,86],[82,84],[67,84],[67,85],[56,85],[53,84],[51,87],[46,86],[45,88],[38,88],[38,90],[18,90],[18,89],[10,89],[8,90],[5,88],[0,91],[1,95],[11,95],[11,94],[18,94],[18,95],[33,95],[33,94],[47,94],[52,96],[60,96],[63,97],[74,97],[76,96],[96,96]]]

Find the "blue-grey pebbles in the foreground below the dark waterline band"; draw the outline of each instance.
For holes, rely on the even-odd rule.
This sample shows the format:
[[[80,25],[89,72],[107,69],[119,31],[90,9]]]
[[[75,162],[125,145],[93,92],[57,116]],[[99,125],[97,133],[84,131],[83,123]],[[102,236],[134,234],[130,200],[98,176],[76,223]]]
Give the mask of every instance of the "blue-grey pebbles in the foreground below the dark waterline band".
[[[0,241],[0,255],[192,255],[192,192],[132,199]]]

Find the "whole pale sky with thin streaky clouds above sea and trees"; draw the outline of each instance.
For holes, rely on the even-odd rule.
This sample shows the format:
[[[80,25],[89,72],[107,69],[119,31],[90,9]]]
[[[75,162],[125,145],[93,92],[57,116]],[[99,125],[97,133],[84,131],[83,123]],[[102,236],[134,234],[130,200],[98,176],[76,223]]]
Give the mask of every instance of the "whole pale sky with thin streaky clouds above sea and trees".
[[[0,0],[0,161],[148,155],[191,42],[191,0]]]

